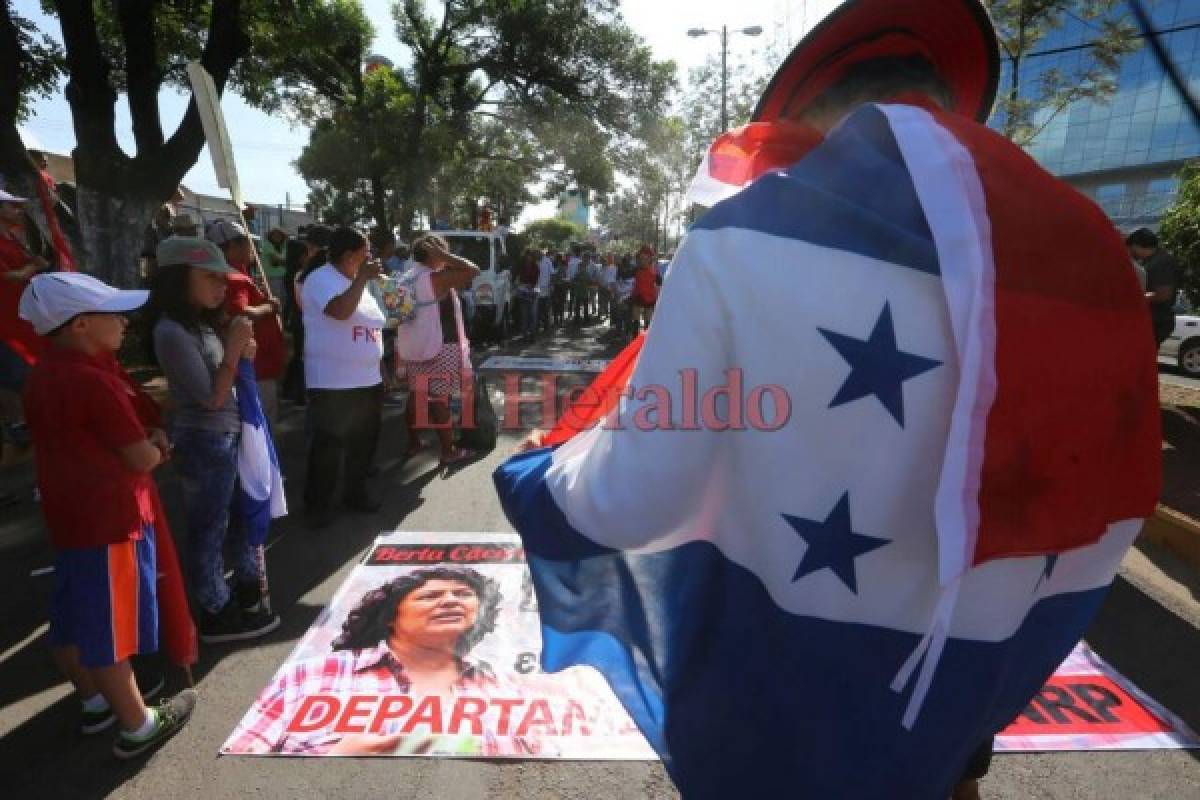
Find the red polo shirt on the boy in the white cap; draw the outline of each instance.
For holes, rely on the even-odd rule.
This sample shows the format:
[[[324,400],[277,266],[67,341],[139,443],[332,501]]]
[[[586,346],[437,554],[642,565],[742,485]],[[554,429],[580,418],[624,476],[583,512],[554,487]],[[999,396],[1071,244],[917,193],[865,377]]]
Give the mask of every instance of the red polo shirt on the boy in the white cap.
[[[137,392],[109,354],[47,348],[25,381],[37,488],[55,549],[101,547],[154,522],[154,481],[119,450],[146,439]]]

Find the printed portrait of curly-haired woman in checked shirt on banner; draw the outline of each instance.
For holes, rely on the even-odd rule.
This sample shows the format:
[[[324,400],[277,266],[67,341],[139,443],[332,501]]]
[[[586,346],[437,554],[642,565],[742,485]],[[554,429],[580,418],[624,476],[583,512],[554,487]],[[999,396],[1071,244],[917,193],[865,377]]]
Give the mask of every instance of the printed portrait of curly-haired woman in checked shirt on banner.
[[[510,681],[468,657],[496,628],[499,584],[466,567],[432,567],[402,575],[362,595],[342,624],[328,656],[292,664],[276,676],[239,726],[228,750],[244,753],[329,756],[530,753],[528,738],[415,729],[398,721],[347,732],[341,711],[329,724],[310,724],[313,698],[432,696],[482,698],[512,693]],[[404,700],[407,703],[407,700]],[[340,709],[341,706],[338,706]],[[319,717],[320,715],[317,714]],[[378,720],[378,717],[376,717]],[[305,724],[298,724],[305,720]],[[342,730],[338,730],[342,728]]]

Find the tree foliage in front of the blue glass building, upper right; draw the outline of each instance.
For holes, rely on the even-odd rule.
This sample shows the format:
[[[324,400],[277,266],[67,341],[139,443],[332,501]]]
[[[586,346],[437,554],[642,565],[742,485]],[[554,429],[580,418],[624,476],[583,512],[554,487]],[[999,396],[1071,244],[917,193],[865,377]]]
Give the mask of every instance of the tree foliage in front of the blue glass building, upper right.
[[[1001,55],[1008,60],[1009,84],[1001,88],[997,113],[1009,139],[1027,145],[1063,109],[1080,100],[1106,102],[1116,92],[1121,59],[1141,46],[1126,18],[1123,0],[984,0],[996,24]],[[1026,59],[1046,36],[1074,18],[1094,34],[1073,70],[1045,70],[1025,82]]]

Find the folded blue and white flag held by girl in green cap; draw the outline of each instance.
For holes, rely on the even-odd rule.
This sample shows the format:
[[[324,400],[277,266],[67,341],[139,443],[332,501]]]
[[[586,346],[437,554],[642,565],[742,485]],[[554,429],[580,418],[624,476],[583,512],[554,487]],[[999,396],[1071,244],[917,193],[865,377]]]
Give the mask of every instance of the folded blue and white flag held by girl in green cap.
[[[238,363],[238,411],[241,414],[241,443],[238,447],[238,509],[246,524],[250,543],[262,547],[271,528],[271,519],[287,516],[288,500],[283,494],[283,471],[275,453],[271,427],[263,413],[263,401],[254,379],[254,363],[242,359]]]

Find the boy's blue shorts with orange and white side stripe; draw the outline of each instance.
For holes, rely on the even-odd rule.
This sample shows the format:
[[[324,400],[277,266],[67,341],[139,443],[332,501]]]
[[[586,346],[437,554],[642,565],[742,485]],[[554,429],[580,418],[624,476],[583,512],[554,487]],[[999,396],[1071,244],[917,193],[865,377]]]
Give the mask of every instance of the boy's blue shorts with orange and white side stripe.
[[[59,551],[54,557],[50,645],[79,648],[84,667],[110,667],[158,649],[152,525],[142,539]]]

